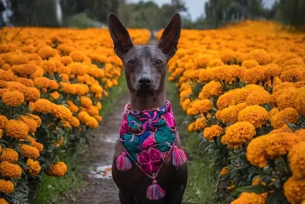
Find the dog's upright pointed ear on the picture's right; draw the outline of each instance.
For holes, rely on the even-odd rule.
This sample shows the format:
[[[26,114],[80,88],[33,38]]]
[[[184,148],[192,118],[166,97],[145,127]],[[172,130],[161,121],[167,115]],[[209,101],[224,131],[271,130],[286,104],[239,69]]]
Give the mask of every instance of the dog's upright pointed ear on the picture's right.
[[[159,48],[169,58],[177,51],[178,40],[181,33],[181,18],[178,13],[174,14],[169,24],[164,29],[159,40]]]

